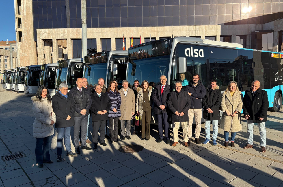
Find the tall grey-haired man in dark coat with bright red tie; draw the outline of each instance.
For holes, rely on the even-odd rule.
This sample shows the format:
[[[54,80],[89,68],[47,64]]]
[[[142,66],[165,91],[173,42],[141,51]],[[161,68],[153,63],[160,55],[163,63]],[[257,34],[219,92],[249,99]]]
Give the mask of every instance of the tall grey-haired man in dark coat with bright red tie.
[[[172,86],[166,84],[167,78],[165,75],[160,76],[160,83],[154,88],[152,94],[152,100],[154,102],[154,114],[157,116],[158,121],[158,133],[159,139],[158,143],[163,140],[163,125],[164,124],[164,136],[166,144],[170,144],[169,138],[169,123],[168,123],[168,109],[167,107],[167,98],[170,92],[173,91]]]

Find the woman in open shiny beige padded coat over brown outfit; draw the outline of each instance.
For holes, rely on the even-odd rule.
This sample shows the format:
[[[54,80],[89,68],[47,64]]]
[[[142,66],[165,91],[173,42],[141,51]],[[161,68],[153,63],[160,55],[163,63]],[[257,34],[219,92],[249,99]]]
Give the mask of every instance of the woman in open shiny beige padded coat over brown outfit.
[[[136,111],[142,123],[142,140],[150,138],[150,120],[151,120],[151,92],[152,86],[148,81],[142,81],[142,87],[137,87]]]

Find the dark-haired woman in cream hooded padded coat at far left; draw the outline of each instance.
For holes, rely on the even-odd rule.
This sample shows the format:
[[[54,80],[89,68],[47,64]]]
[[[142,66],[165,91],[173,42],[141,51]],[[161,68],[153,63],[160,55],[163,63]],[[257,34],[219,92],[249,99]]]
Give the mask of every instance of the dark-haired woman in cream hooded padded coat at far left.
[[[33,121],[33,137],[36,138],[36,164],[43,167],[43,162],[53,163],[50,160],[49,147],[51,136],[54,134],[53,124],[56,116],[52,109],[51,96],[47,87],[41,86],[36,95],[31,97],[32,110],[35,116]]]

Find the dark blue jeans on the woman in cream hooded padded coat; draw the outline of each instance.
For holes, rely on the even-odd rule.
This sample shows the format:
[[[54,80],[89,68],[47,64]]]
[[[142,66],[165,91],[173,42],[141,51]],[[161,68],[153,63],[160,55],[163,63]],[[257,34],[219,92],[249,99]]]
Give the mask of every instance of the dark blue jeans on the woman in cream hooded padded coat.
[[[36,138],[36,163],[42,164],[43,161],[48,162],[50,160],[49,147],[51,144],[51,136],[45,138]]]

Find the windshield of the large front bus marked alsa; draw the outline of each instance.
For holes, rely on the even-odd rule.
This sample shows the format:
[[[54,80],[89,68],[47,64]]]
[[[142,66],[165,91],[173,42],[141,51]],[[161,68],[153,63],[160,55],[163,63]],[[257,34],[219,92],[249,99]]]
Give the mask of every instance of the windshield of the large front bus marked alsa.
[[[161,75],[168,75],[170,55],[131,60],[128,63],[127,80],[132,86],[135,80],[159,83]]]

